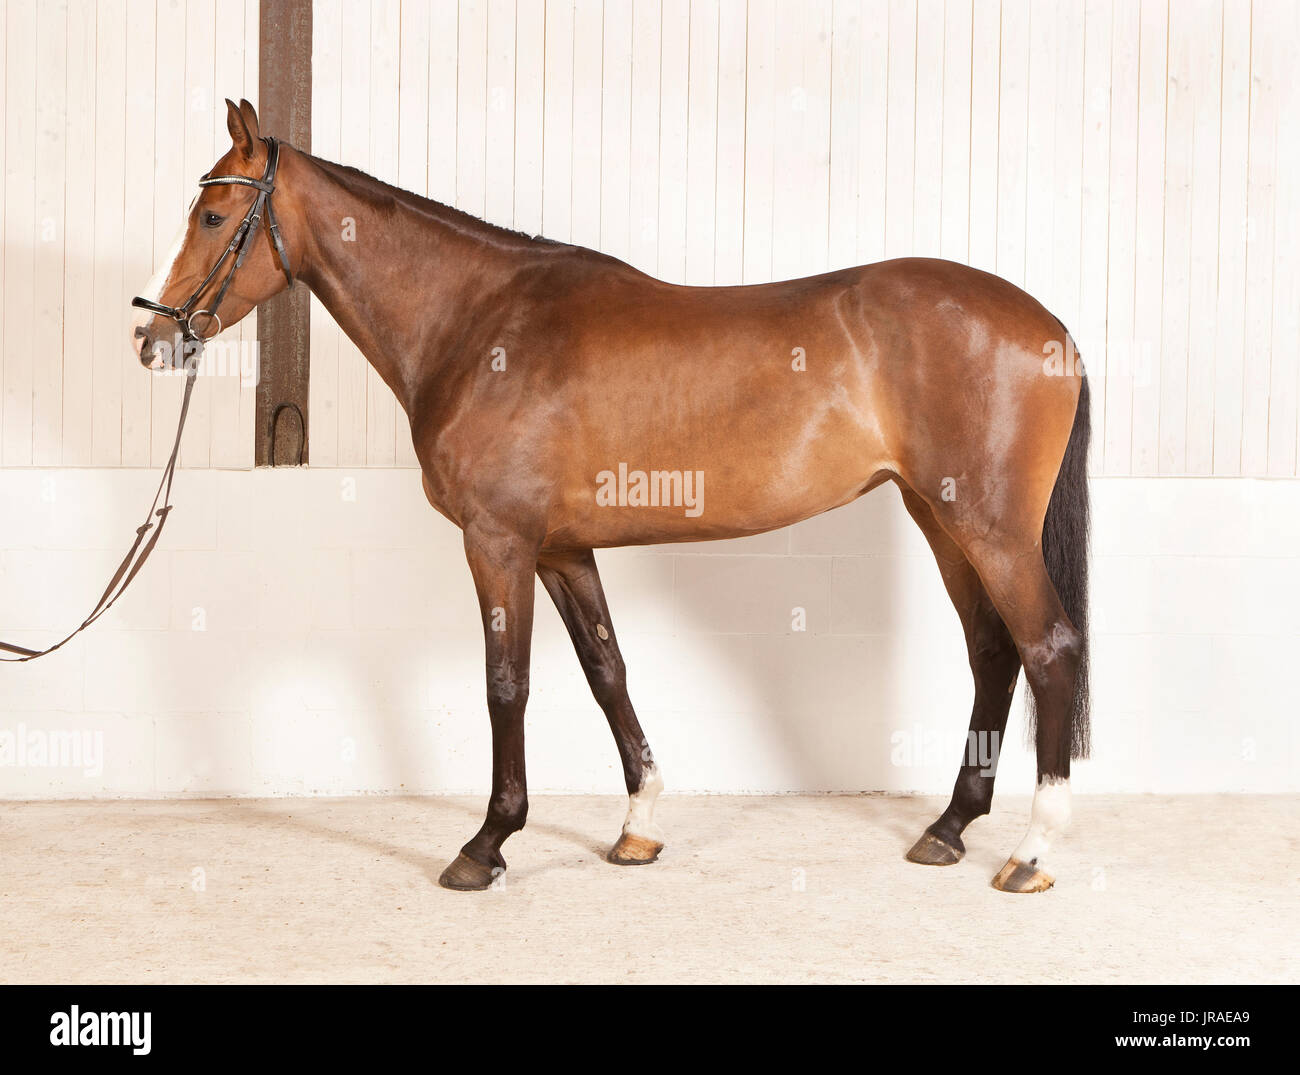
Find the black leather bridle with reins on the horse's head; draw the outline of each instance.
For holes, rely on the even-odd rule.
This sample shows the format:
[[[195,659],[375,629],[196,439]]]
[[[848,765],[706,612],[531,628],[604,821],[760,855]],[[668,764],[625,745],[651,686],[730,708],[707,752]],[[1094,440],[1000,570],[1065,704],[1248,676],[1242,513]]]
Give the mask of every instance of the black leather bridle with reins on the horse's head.
[[[280,143],[274,138],[264,138],[263,142],[266,143],[266,170],[263,173],[260,179],[252,179],[247,175],[204,175],[199,179],[200,187],[218,187],[218,186],[240,186],[252,187],[257,191],[257,196],[254,199],[252,205],[248,207],[248,212],[244,213],[244,218],[239,222],[239,227],[235,229],[234,237],[226,246],[222,255],[217,259],[217,264],[212,266],[212,270],[203,278],[192,295],[186,299],[181,305],[166,305],[164,303],[156,303],[152,299],[146,299],[136,295],[131,299],[131,305],[140,309],[147,309],[151,313],[161,315],[162,317],[170,317],[181,328],[182,337],[182,354],[183,354],[183,367],[185,367],[185,395],[181,399],[181,419],[176,426],[176,442],[172,445],[172,455],[168,458],[166,465],[162,468],[162,480],[159,482],[157,493],[153,494],[153,503],[150,504],[150,512],[144,516],[143,525],[138,526],[135,530],[135,541],[133,542],[130,551],[122,558],[122,563],[118,564],[117,571],[113,572],[113,577],[105,588],[99,603],[91,610],[91,614],[82,620],[81,627],[78,627],[66,638],[55,642],[52,646],[47,646],[43,650],[31,650],[26,646],[18,646],[13,642],[0,642],[0,650],[6,653],[17,654],[17,656],[0,656],[0,662],[26,662],[35,660],[38,656],[44,656],[46,654],[52,654],[55,650],[62,649],[68,642],[81,634],[86,628],[88,628],[95,620],[103,616],[117,599],[126,591],[126,588],[131,584],[131,580],[139,575],[140,568],[144,567],[144,562],[150,558],[150,554],[157,547],[159,538],[162,537],[162,526],[166,523],[168,515],[172,512],[172,480],[176,476],[176,464],[181,456],[181,433],[185,430],[185,419],[190,413],[190,395],[194,391],[194,382],[199,374],[199,356],[203,352],[203,344],[212,339],[221,331],[221,318],[217,316],[217,307],[221,305],[221,300],[225,299],[226,291],[230,289],[230,281],[235,278],[235,273],[239,272],[243,260],[252,247],[254,237],[257,234],[257,227],[261,224],[263,217],[266,218],[266,231],[270,234],[270,240],[276,246],[276,253],[280,255],[280,264],[285,270],[285,276],[289,278],[289,285],[294,285],[294,273],[289,265],[289,251],[285,248],[285,239],[280,234],[280,225],[276,222],[276,213],[270,208],[270,196],[276,192],[276,169],[280,166]],[[212,300],[212,305],[205,309],[196,308],[199,304],[199,298],[204,291],[208,290],[213,279],[216,279],[217,273],[221,272],[221,266],[234,256],[234,261],[230,265],[230,270],[226,273],[226,278],[221,282],[221,287],[217,290],[216,298]],[[216,322],[217,330],[204,337],[194,325],[196,317],[205,316],[208,324],[204,328],[211,328],[212,322]],[[173,367],[177,363],[173,360]],[[159,500],[162,502],[162,507],[159,507]],[[157,523],[152,520],[157,517]],[[150,533],[152,530],[152,533]]]

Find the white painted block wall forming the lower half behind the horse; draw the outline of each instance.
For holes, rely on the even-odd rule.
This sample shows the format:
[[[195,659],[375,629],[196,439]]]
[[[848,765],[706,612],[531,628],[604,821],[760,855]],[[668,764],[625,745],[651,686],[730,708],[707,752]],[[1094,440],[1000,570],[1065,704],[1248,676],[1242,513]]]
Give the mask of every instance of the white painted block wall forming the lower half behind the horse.
[[[0,472],[0,634],[77,623],[155,481]],[[1078,788],[1300,788],[1300,482],[1096,478],[1093,498],[1096,757]],[[99,732],[101,767],[0,764],[0,797],[486,790],[473,586],[415,472],[187,471],[176,502],[109,616],[0,668],[0,736]],[[774,534],[598,559],[670,788],[952,785],[966,654],[892,489]],[[620,790],[540,586],[533,653],[533,788]],[[1017,701],[1000,786],[1023,793],[1022,727]]]

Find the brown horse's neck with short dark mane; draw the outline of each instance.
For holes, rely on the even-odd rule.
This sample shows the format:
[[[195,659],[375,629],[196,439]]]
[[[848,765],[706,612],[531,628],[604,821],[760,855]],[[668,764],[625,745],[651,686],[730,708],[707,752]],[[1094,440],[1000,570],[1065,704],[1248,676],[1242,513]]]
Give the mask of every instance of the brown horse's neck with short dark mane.
[[[458,325],[510,278],[511,248],[528,240],[502,243],[514,233],[342,165],[295,157],[306,164],[307,186],[295,190],[309,234],[299,277],[410,415],[421,386],[458,357]]]

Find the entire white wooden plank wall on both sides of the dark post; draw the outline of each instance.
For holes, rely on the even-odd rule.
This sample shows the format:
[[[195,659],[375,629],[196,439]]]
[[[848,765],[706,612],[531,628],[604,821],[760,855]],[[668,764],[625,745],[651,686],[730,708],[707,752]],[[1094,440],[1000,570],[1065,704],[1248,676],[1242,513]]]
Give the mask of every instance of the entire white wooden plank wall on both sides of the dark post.
[[[318,0],[317,153],[692,283],[992,269],[1091,361],[1095,471],[1297,473],[1292,0]],[[0,0],[0,464],[156,465],[127,302],[255,97],[256,0]],[[237,330],[251,339],[254,326]],[[207,380],[187,465],[246,467]],[[312,460],[410,465],[313,309]]]

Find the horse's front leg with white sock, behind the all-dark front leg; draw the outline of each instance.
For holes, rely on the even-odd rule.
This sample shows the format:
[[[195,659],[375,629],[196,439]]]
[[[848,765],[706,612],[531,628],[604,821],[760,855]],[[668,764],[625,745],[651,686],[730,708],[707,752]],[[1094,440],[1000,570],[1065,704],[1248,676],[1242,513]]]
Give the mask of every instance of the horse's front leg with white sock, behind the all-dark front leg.
[[[610,723],[623,762],[628,815],[623,833],[606,858],[615,866],[651,863],[663,850],[663,832],[654,820],[663,775],[628,697],[627,667],[614,634],[595,556],[590,550],[543,554],[537,573],[568,628],[592,694]]]

